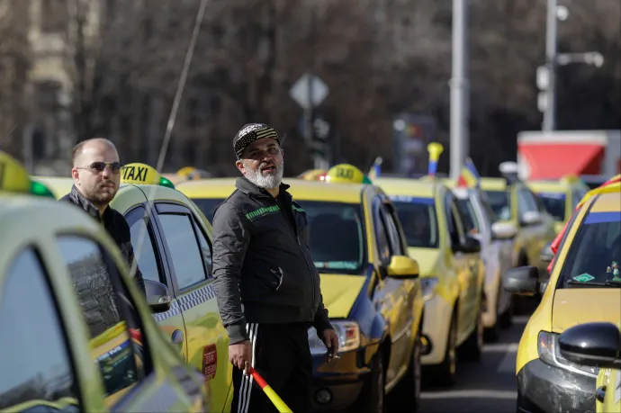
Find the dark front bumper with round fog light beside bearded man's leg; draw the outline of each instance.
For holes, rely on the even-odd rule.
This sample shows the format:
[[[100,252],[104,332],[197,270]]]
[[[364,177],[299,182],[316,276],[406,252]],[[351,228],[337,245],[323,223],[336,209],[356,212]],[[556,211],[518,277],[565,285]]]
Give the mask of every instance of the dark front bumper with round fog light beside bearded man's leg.
[[[351,407],[371,380],[371,354],[361,349],[339,354],[326,364],[323,356],[313,356],[311,410],[333,411]]]

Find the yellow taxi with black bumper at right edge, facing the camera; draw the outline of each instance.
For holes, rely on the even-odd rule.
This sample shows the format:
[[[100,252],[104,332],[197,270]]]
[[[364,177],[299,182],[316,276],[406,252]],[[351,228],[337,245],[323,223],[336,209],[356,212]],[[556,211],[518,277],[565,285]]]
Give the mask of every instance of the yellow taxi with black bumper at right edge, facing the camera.
[[[519,411],[593,411],[599,369],[576,364],[559,351],[559,335],[586,322],[621,323],[621,193],[590,197],[573,215],[541,303],[528,320],[516,372]],[[539,288],[534,266],[505,276],[509,292]],[[551,397],[554,395],[554,397]]]

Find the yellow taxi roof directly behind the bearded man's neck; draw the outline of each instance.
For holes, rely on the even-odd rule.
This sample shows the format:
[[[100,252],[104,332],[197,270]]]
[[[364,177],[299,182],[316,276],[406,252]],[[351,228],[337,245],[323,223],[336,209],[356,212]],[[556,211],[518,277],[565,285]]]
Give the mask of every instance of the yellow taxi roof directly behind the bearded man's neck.
[[[179,192],[191,199],[223,199],[235,191],[238,178],[214,178],[188,181],[178,184]],[[284,178],[284,184],[291,185],[289,193],[299,201],[334,201],[360,203],[362,184],[326,184],[320,181],[306,181]]]

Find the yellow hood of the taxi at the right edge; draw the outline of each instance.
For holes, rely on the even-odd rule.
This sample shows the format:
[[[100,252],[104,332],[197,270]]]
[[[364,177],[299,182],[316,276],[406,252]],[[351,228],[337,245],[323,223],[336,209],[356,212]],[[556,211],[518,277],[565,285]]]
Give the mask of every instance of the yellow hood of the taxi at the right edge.
[[[554,292],[552,331],[590,322],[609,322],[619,326],[621,289],[563,288]]]

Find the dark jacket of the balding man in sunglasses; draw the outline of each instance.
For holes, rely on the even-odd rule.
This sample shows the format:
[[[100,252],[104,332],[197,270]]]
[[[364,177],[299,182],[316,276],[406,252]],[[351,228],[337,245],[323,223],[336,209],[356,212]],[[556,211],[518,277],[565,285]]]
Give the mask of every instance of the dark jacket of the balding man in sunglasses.
[[[134,248],[131,245],[130,226],[127,224],[127,221],[125,220],[125,217],[122,216],[121,212],[112,210],[112,208],[108,207],[105,211],[103,211],[103,216],[100,216],[99,210],[97,210],[93,203],[89,202],[84,195],[77,190],[75,185],[71,188],[70,193],[67,193],[67,195],[60,198],[60,201],[73,203],[86,211],[86,213],[88,213],[88,215],[93,217],[95,220],[102,222],[103,228],[105,228],[112,239],[114,239],[114,242],[116,242],[116,245],[119,249],[121,249],[121,253],[125,257],[128,265],[131,266],[134,262]],[[140,273],[138,265],[136,265],[134,280],[136,281],[136,284],[138,284],[140,291],[146,296],[145,282],[142,278],[142,273]]]

